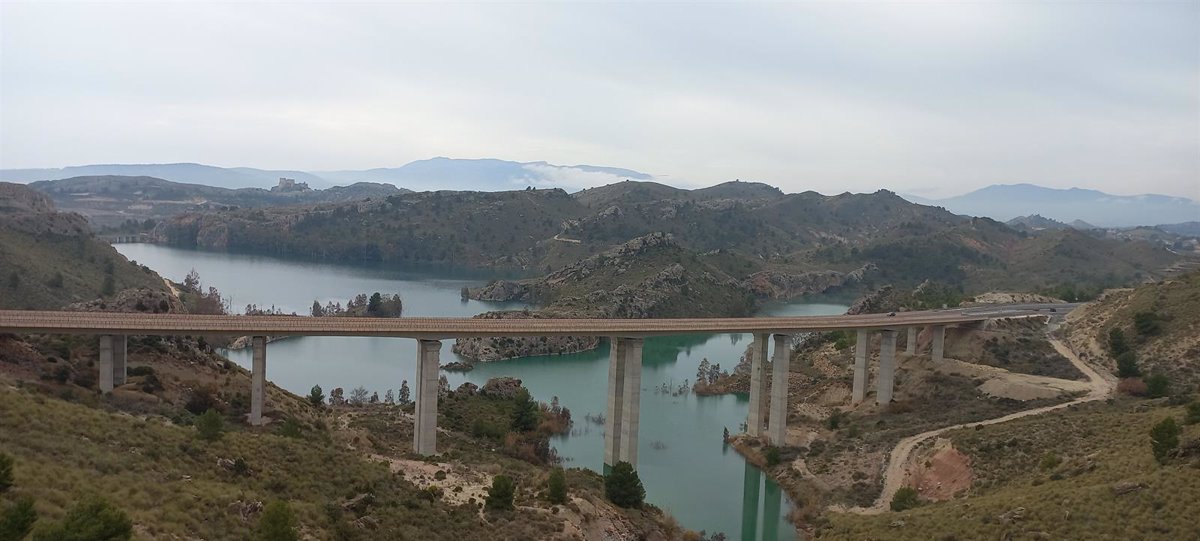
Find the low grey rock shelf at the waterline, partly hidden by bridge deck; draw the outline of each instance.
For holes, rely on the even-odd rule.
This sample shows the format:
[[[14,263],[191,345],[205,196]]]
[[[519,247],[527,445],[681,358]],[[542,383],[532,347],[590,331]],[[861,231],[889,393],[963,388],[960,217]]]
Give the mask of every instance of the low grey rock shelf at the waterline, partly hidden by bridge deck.
[[[544,312],[487,312],[476,315],[479,319],[534,319],[550,318]],[[454,353],[475,361],[499,361],[504,359],[527,357],[536,355],[562,355],[587,351],[600,345],[595,336],[529,336],[485,338],[458,338]]]

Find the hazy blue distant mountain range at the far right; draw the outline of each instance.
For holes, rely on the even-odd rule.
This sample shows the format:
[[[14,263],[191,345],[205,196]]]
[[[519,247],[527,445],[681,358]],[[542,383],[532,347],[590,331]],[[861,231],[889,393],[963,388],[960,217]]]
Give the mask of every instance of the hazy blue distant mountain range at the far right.
[[[1003,222],[1031,215],[1097,227],[1200,221],[1200,203],[1182,197],[1112,196],[1096,190],[1058,190],[1030,184],[994,185],[946,199],[904,198],[922,205],[943,206],[959,215],[988,216]]]

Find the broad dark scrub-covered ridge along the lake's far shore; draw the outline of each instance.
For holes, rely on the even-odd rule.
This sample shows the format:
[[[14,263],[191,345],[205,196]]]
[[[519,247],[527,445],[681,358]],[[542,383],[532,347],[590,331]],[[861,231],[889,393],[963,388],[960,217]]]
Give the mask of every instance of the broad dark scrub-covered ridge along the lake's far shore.
[[[317,260],[432,263],[552,272],[665,233],[733,278],[872,268],[863,287],[934,279],[965,293],[1114,287],[1178,259],[1147,242],[1030,234],[894,193],[784,194],[752,182],[679,190],[626,181],[559,190],[424,192],[370,202],[188,214],[156,234],[176,246]],[[809,278],[815,278],[810,276]],[[761,277],[750,282],[762,283]],[[780,282],[781,284],[782,282]],[[786,287],[758,288],[764,296]],[[782,291],[782,293],[781,293]]]

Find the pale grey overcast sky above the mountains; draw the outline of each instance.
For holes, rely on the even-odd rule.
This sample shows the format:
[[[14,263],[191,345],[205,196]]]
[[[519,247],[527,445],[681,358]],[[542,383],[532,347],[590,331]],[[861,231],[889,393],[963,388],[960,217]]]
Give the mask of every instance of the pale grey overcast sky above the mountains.
[[[0,167],[637,169],[1200,199],[1200,1],[0,6]]]

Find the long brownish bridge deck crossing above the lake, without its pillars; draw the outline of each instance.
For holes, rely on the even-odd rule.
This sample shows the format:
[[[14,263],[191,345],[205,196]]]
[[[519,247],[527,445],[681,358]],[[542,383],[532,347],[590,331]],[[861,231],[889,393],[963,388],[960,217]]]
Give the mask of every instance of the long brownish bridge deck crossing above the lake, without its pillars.
[[[54,335],[238,335],[380,336],[419,339],[488,336],[620,336],[684,333],[794,333],[886,330],[922,325],[972,324],[996,318],[1046,314],[1072,305],[1014,305],[859,315],[690,319],[474,319],[350,318],[296,315],[194,315],[116,312],[0,311],[0,332]]]

